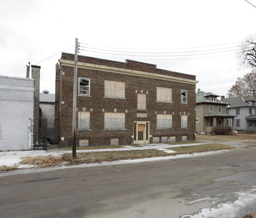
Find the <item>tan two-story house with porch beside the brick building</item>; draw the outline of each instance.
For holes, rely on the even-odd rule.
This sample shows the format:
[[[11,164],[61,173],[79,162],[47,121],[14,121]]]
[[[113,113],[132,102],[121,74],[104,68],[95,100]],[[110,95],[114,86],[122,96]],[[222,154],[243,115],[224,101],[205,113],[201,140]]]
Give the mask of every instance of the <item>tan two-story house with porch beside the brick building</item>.
[[[225,127],[227,120],[234,127],[234,115],[226,113],[225,102],[217,99],[219,95],[197,90],[196,93],[196,132],[197,134],[211,133],[213,127]],[[234,128],[232,128],[234,129]]]

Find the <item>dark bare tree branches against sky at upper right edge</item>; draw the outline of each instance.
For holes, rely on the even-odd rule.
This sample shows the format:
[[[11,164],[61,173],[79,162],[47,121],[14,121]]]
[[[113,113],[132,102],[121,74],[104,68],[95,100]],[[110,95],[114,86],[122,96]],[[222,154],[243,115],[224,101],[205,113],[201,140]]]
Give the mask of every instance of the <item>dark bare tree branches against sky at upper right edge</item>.
[[[256,36],[250,35],[242,42],[238,52],[240,65],[245,68],[256,69]]]

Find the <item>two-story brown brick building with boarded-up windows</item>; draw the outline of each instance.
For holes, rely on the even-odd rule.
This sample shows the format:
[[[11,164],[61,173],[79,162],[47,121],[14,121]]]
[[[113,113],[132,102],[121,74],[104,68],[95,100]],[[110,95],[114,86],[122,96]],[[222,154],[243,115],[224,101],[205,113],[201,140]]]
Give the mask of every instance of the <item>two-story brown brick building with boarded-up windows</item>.
[[[62,53],[59,63],[56,120],[65,147],[72,145],[74,54]],[[195,84],[194,75],[153,64],[78,56],[77,145],[194,141]]]

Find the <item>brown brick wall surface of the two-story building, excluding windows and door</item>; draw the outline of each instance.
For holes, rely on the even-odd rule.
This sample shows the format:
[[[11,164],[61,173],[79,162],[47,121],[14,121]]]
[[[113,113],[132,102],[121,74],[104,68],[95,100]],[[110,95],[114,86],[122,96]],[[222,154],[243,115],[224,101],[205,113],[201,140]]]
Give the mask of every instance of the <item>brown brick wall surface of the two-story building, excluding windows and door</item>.
[[[61,59],[74,60],[73,54],[63,53]],[[134,61],[114,62],[102,60],[98,58],[90,58],[86,56],[78,56],[78,62],[87,62],[91,64],[105,65],[111,67],[119,67],[124,69],[132,69],[137,71],[145,71],[149,73],[164,74],[195,80],[195,76],[181,74],[171,71],[156,69],[156,65],[145,64]],[[61,72],[65,74],[62,75]],[[73,99],[73,72],[74,67],[60,65],[60,137],[65,140],[61,141],[61,146],[70,146],[72,142],[72,99]],[[110,73],[105,71],[96,71],[91,69],[78,68],[78,78],[90,78],[91,80],[91,97],[77,96],[78,111],[82,111],[86,107],[86,111],[90,112],[90,128],[91,131],[76,131],[77,142],[80,139],[88,139],[89,145],[110,145],[111,138],[119,138],[119,144],[132,144],[134,134],[134,121],[149,121],[150,135],[152,137],[176,136],[176,141],[181,141],[182,136],[187,136],[187,140],[195,140],[195,85],[180,82],[170,82],[147,78],[143,76],[133,76],[128,74]],[[115,80],[125,82],[125,98],[113,99],[104,98],[104,80]],[[173,103],[156,102],[156,87],[172,88]],[[181,104],[181,89],[187,90],[187,103]],[[146,95],[147,111],[137,110],[137,93],[143,90]],[[64,104],[61,104],[64,102]],[[104,129],[104,112],[125,113],[125,128],[122,130],[103,130]],[[173,114],[173,129],[156,130],[156,113]],[[188,129],[181,129],[180,113],[188,115]],[[147,113],[147,118],[137,117],[137,113]],[[152,137],[150,142],[152,143]]]

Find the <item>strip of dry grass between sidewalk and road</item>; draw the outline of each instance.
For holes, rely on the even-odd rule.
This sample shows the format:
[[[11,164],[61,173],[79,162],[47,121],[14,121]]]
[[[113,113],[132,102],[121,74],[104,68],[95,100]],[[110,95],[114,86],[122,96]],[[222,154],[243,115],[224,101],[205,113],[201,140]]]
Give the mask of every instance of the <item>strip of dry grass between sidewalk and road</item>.
[[[63,154],[60,157],[48,155],[37,157],[24,157],[20,164],[36,165],[37,167],[55,167],[61,165],[76,165],[81,163],[101,163],[112,162],[126,159],[141,159],[151,157],[175,156],[177,154],[193,154],[206,151],[217,151],[223,149],[232,149],[232,146],[222,144],[193,145],[170,148],[177,153],[166,153],[156,149],[135,150],[135,151],[100,151],[77,153],[73,159],[72,154]]]

